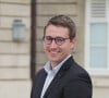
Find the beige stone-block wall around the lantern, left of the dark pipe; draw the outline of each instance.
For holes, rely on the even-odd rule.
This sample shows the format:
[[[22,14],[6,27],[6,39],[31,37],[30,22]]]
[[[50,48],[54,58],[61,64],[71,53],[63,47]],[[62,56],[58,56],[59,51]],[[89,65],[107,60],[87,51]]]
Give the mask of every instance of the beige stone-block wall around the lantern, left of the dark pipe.
[[[29,0],[0,0],[0,98],[29,98]],[[13,38],[14,21],[25,24],[26,37]]]

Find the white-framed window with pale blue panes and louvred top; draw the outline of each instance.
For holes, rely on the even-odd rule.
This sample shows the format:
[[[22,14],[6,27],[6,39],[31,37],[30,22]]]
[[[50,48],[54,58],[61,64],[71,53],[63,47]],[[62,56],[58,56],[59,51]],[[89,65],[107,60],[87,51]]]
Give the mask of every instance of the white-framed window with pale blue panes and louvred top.
[[[109,0],[86,0],[85,66],[109,75]]]

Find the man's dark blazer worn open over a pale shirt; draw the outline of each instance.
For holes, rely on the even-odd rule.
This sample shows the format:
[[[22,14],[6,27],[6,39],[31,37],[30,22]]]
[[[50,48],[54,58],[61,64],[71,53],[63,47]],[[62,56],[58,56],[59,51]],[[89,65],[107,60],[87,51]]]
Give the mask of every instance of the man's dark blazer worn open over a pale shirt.
[[[31,98],[40,98],[47,73],[40,70],[32,87]],[[73,58],[68,59],[51,82],[44,98],[92,98],[92,81]]]

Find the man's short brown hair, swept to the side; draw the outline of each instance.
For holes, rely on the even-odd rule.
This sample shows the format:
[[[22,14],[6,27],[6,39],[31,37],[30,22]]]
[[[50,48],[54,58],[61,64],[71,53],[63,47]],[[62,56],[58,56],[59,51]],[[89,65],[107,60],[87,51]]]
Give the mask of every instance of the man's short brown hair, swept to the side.
[[[70,36],[70,39],[73,39],[75,36],[76,36],[76,27],[75,27],[75,23],[66,15],[57,15],[57,16],[53,16],[51,17],[47,25],[45,26],[44,28],[44,36],[45,36],[45,32],[46,32],[46,28],[50,25],[55,25],[55,26],[63,26],[63,27],[66,27],[69,28],[69,36]]]

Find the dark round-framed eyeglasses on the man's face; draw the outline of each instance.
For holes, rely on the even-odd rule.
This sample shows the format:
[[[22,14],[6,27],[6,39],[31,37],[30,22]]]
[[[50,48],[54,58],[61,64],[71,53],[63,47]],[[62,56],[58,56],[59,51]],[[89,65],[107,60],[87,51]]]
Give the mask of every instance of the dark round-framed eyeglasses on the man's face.
[[[55,42],[56,42],[58,46],[61,46],[66,39],[70,39],[70,38],[63,38],[63,37],[56,37],[56,38],[52,38],[51,36],[45,36],[45,37],[44,37],[45,44],[50,45],[50,44],[52,42],[52,40],[55,40]]]

